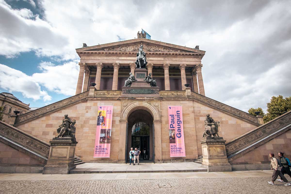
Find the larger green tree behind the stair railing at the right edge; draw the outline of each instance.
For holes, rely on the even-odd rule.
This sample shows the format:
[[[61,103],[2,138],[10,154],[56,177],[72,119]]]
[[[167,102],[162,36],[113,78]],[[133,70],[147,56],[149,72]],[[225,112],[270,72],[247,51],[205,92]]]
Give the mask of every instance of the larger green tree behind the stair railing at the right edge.
[[[278,97],[273,96],[271,101],[267,103],[267,114],[264,116],[264,122],[268,122],[287,111],[291,110],[291,96],[285,97],[279,95]]]

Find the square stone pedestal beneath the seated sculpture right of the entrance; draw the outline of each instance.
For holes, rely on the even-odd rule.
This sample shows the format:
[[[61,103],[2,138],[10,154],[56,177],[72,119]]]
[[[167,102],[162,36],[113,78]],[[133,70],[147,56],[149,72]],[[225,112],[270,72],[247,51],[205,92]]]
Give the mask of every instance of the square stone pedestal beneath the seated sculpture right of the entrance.
[[[203,162],[202,168],[208,172],[232,171],[226,156],[225,142],[223,137],[203,137],[202,144]]]

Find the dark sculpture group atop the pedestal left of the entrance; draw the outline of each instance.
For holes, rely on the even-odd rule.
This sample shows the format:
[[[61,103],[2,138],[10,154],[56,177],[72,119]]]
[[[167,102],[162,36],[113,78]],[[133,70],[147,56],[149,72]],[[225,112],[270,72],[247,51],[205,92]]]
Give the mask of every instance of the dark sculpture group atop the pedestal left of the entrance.
[[[76,120],[72,120],[68,115],[65,115],[63,119],[63,123],[59,125],[58,129],[56,130],[58,136],[56,137],[71,137],[75,138],[76,134]]]

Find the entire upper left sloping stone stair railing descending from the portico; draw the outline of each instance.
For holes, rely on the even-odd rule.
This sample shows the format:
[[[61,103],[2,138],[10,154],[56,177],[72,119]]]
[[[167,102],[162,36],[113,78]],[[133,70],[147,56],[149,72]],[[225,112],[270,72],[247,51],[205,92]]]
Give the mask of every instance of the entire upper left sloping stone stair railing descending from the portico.
[[[89,91],[86,91],[86,92],[74,95],[72,97],[63,99],[61,101],[55,102],[53,104],[49,104],[47,106],[38,108],[34,111],[30,111],[30,112],[27,112],[23,115],[20,115],[17,117],[16,123],[14,126],[18,126],[20,124],[37,119],[37,118],[42,117],[44,115],[47,115],[49,113],[58,111],[58,110],[65,108],[67,106],[72,106],[73,104],[77,104],[79,102],[82,102],[82,101],[86,100],[86,97],[88,96],[88,94],[89,94]]]

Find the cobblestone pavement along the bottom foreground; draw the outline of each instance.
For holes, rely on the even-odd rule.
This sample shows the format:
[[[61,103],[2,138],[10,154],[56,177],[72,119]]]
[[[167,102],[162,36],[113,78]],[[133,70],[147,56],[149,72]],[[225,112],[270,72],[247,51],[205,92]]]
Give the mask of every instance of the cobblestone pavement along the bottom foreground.
[[[291,186],[271,177],[154,180],[0,181],[1,194],[103,194],[103,193],[291,193]]]

